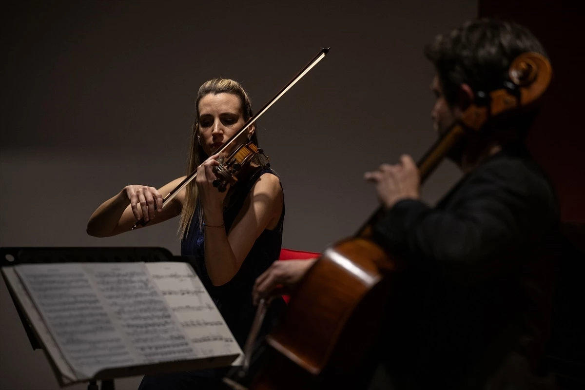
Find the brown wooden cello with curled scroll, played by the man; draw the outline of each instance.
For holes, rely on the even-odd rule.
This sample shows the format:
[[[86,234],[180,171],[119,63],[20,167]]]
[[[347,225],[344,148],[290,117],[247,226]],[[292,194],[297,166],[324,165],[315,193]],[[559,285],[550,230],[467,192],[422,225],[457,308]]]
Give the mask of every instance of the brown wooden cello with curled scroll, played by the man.
[[[540,54],[524,53],[512,62],[508,75],[510,81],[503,88],[476,92],[474,104],[419,160],[421,184],[463,134],[480,132],[487,123],[494,123],[492,120],[534,106],[550,84],[552,69]],[[400,296],[400,275],[405,269],[400,257],[373,240],[373,226],[383,212],[378,208],[355,236],[325,249],[292,292],[273,332],[266,336],[259,368],[249,372],[245,364],[235,379],[249,383],[247,388],[253,390],[354,389],[364,385],[363,373],[375,364],[371,354],[381,339],[383,308],[392,310],[392,302]],[[260,303],[257,321],[266,305]],[[252,332],[257,329],[255,321]],[[250,353],[250,338],[246,354]],[[245,388],[234,385],[234,378],[224,382]]]

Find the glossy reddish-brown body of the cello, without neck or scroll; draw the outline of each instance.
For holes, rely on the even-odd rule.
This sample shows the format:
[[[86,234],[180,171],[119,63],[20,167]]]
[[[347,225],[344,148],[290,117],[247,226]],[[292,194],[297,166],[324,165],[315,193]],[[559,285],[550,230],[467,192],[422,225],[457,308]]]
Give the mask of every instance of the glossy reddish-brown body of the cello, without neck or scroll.
[[[326,250],[267,336],[270,368],[252,388],[359,388],[371,368],[369,356],[383,323],[380,308],[397,285],[396,271],[368,239],[348,239]]]

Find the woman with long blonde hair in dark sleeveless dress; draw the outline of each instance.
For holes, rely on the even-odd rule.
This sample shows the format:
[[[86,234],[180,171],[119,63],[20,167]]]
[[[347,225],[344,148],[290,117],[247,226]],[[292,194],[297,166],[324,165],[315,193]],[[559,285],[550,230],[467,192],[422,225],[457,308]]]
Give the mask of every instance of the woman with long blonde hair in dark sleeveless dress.
[[[199,88],[195,111],[188,168],[190,172],[197,170],[197,178],[164,208],[163,196],[185,177],[159,189],[128,185],[95,210],[87,233],[96,237],[115,236],[128,232],[140,219],[149,222],[145,226],[150,226],[180,216],[181,256],[192,257],[192,265],[205,288],[243,347],[255,314],[252,285],[280,254],[283,189],[261,154],[254,157],[233,187],[228,186],[228,191],[220,192],[213,185],[214,167],[219,165],[220,157],[215,151],[252,117],[250,98],[238,82],[228,79],[205,82]],[[245,135],[257,144],[254,130],[254,125],[249,126]],[[275,305],[269,318],[276,316],[281,305],[284,301]],[[221,379],[224,371],[147,376],[140,389],[194,385],[201,389]]]

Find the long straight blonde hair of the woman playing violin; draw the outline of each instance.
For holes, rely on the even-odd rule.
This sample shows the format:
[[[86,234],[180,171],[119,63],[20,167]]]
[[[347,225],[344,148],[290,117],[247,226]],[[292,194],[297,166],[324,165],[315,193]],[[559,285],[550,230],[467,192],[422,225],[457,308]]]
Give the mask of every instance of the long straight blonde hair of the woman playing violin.
[[[192,132],[191,132],[191,148],[189,151],[189,158],[187,163],[187,174],[191,174],[197,170],[197,167],[203,163],[209,156],[205,153],[201,144],[198,141],[198,134],[199,134],[199,101],[204,98],[205,95],[209,94],[233,94],[238,96],[240,102],[242,102],[242,116],[244,120],[248,120],[252,117],[252,101],[250,100],[248,94],[242,88],[239,82],[230,80],[229,78],[214,78],[212,80],[204,82],[201,87],[199,87],[199,92],[197,94],[197,100],[195,101],[195,122],[193,123]],[[257,145],[258,139],[256,137],[256,132],[252,135],[252,141]],[[262,164],[263,165],[263,164]],[[198,202],[198,191],[197,185],[195,184],[195,180],[192,180],[187,187],[185,188],[185,202],[183,204],[183,209],[181,210],[181,220],[179,222],[178,234],[181,239],[187,236],[189,226],[191,225],[191,220],[195,215],[195,209],[197,208]],[[201,226],[201,222],[203,219],[203,212],[202,209],[199,209],[199,225]]]

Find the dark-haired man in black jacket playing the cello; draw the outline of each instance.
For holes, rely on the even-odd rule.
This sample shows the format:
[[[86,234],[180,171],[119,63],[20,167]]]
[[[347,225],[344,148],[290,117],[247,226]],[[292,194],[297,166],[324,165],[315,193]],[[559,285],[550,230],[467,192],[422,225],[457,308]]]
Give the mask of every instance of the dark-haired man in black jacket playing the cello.
[[[546,57],[528,29],[501,20],[437,36],[425,49],[436,71],[435,131],[503,88],[511,61],[529,51]],[[364,174],[385,210],[374,239],[408,265],[400,308],[384,324],[373,388],[555,388],[543,364],[553,264],[539,254],[556,236],[559,208],[526,148],[534,115],[466,132],[448,156],[463,178],[435,207],[421,200],[410,156]],[[273,263],[256,279],[254,301],[277,285],[294,289],[314,261]]]

